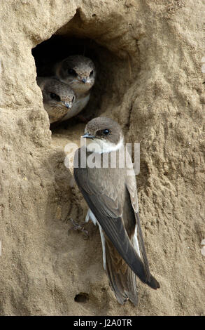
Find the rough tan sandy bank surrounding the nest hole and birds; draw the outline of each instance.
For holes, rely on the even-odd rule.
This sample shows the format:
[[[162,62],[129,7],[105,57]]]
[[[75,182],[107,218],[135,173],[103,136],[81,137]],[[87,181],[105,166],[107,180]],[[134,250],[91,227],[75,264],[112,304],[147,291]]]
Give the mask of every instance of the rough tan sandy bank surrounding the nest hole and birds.
[[[204,11],[200,0],[1,1],[1,315],[205,315]],[[98,228],[71,230],[87,206],[64,147],[85,124],[50,131],[36,66],[53,46],[72,53],[72,39],[97,66],[85,115],[141,143],[141,225],[161,288],[138,282],[137,308],[108,285]]]

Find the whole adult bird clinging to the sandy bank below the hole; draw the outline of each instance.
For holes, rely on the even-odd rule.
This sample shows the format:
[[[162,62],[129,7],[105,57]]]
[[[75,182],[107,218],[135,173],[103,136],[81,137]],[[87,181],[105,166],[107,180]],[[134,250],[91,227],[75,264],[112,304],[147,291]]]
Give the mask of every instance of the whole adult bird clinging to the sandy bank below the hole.
[[[104,268],[118,302],[123,305],[129,299],[137,305],[136,275],[153,289],[160,284],[149,270],[132,159],[127,153],[128,163],[120,166],[118,156],[122,149],[125,151],[124,137],[118,123],[110,118],[89,121],[83,138],[86,146],[76,150],[73,164],[74,178],[89,206],[85,221],[90,218],[99,225]],[[99,164],[93,166],[91,162],[89,166],[90,157],[100,157]],[[115,168],[111,166],[112,157],[116,159]],[[80,161],[84,162],[81,167]]]

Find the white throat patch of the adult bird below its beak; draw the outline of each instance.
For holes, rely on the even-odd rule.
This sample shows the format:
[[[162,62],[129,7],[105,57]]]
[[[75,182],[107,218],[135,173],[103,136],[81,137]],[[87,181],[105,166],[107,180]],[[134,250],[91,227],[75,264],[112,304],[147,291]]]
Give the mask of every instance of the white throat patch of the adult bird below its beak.
[[[123,138],[120,138],[120,141],[117,144],[98,138],[95,138],[94,140],[86,140],[87,151],[97,152],[98,154],[117,151],[122,147],[122,145],[124,145]]]

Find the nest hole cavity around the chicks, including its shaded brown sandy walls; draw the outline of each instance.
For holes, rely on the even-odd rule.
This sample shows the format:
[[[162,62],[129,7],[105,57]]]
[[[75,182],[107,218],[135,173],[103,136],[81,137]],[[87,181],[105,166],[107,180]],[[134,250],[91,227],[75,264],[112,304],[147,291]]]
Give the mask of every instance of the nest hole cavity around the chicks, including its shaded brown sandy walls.
[[[101,46],[100,38],[96,42],[92,36],[87,37],[86,29],[82,36],[72,35],[71,31],[61,34],[62,29],[63,27],[50,39],[32,49],[38,77],[48,76],[45,67],[52,66],[69,55],[85,55],[94,62],[97,76],[90,93],[90,100],[80,114],[89,120],[101,115],[113,117],[112,112],[120,106],[124,97],[123,88],[124,90],[129,88],[129,58],[120,58],[118,52],[113,53],[108,49],[109,45],[107,48],[105,45]],[[84,128],[85,122],[80,123],[76,117],[57,125],[51,124],[52,142],[55,140],[57,143],[59,137],[67,137],[72,141],[80,140]],[[57,144],[61,143],[62,141],[59,140]]]

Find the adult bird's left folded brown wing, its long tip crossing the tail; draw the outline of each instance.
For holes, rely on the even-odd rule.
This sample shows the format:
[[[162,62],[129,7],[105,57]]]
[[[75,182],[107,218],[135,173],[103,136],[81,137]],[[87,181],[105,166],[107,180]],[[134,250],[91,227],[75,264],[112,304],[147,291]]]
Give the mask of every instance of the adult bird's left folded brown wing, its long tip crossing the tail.
[[[77,157],[80,159],[80,149],[75,153],[74,164],[77,163]],[[107,183],[106,180],[100,180],[98,176],[92,176],[92,170],[88,172],[86,168],[80,167],[74,168],[74,178],[92,213],[120,256],[142,282],[157,289],[159,287],[158,282],[152,275],[150,278],[147,276],[143,262],[127,235],[122,220],[122,207],[118,203],[118,193],[111,180]]]

